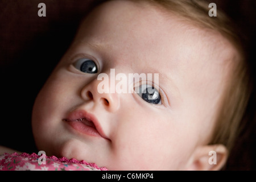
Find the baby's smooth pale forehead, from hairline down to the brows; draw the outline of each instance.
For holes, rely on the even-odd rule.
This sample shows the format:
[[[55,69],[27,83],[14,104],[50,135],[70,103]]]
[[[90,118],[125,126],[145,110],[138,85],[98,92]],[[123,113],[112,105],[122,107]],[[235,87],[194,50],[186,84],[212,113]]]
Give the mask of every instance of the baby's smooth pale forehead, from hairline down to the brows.
[[[93,10],[82,22],[75,44],[81,51],[92,48],[113,66],[155,68],[168,78],[190,70],[197,79],[200,72],[210,81],[213,75],[222,76],[232,50],[217,32],[193,26],[149,3],[121,0]]]

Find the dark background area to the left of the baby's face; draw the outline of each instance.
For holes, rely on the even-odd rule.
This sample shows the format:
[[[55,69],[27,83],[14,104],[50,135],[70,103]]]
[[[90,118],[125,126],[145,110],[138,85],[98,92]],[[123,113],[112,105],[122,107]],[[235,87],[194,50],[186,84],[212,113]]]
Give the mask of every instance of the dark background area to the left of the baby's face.
[[[41,2],[46,17],[38,16]],[[91,2],[0,0],[0,145],[37,154],[31,131],[35,97]]]

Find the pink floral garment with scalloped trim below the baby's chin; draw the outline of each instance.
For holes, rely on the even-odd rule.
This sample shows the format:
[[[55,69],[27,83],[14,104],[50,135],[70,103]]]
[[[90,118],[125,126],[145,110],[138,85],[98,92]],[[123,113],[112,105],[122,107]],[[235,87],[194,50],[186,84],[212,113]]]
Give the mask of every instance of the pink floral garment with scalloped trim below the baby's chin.
[[[42,158],[45,156],[45,164]],[[57,158],[56,156],[32,154],[0,155],[0,171],[108,171],[84,160]],[[41,163],[41,164],[40,164]]]

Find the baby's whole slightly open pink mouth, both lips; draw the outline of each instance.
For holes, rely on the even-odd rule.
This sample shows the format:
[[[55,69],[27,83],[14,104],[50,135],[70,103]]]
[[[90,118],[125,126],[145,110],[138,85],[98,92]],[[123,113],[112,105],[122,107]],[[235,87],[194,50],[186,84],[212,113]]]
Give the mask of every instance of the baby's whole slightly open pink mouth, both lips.
[[[104,134],[100,123],[93,114],[89,114],[84,110],[72,111],[67,118],[63,119],[72,129],[75,129],[82,135],[90,135],[92,137],[101,137],[108,139]],[[109,139],[108,139],[109,140]]]

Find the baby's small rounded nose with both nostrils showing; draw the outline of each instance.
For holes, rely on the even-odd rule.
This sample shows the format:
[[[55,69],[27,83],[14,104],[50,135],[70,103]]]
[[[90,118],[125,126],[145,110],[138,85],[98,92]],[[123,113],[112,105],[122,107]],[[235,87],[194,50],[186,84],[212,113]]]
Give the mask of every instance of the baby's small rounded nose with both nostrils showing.
[[[102,105],[106,110],[114,112],[119,108],[119,94],[110,92],[98,92],[98,84],[101,80],[93,80],[81,90],[81,97],[85,101],[93,101],[95,105]],[[108,86],[108,85],[104,85]],[[110,90],[109,88],[105,88]]]

